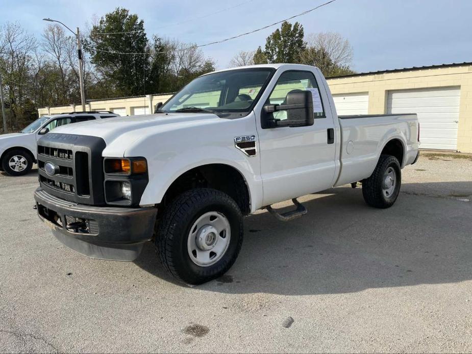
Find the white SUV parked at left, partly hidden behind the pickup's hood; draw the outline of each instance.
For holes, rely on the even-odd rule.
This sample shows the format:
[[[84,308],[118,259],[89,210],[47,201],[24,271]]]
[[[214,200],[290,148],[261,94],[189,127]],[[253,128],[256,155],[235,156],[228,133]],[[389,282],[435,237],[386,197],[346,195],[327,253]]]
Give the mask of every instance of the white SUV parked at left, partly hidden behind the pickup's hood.
[[[12,176],[28,173],[36,162],[37,140],[61,125],[119,117],[109,111],[73,112],[40,117],[20,133],[0,135],[0,170]]]

